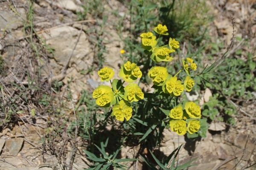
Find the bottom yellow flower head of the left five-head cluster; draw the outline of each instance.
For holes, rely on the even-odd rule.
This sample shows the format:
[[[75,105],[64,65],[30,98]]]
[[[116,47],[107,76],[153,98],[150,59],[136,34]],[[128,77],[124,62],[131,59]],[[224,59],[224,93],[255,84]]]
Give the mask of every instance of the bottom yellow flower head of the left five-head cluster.
[[[119,104],[113,105],[111,116],[115,116],[119,121],[124,121],[124,119],[128,121],[132,116],[131,113],[131,105],[125,100],[121,100]]]

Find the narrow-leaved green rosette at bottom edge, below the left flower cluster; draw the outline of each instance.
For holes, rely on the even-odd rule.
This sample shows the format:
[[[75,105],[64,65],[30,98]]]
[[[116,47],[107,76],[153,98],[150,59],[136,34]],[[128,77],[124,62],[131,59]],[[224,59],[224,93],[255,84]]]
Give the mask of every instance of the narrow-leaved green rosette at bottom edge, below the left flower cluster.
[[[102,154],[101,157],[97,157],[95,154],[90,153],[87,150],[84,150],[84,153],[86,153],[87,155],[86,158],[95,162],[93,165],[90,166],[88,170],[109,170],[111,167],[114,167],[115,170],[118,170],[118,169],[125,170],[128,167],[126,167],[121,163],[127,162],[127,161],[139,160],[139,159],[116,159],[116,156],[121,150],[122,143],[125,141],[125,139],[123,139],[122,142],[120,142],[119,147],[115,151],[113,151],[113,153],[110,155],[108,155],[105,151],[105,147],[107,147],[108,145],[108,139],[106,140],[105,143],[101,142],[101,148],[95,145],[99,150],[99,152]]]

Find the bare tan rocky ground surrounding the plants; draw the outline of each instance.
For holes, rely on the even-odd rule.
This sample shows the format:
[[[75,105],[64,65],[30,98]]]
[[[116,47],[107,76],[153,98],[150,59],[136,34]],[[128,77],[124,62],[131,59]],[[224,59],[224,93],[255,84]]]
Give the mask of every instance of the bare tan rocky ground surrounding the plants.
[[[229,17],[233,15],[236,18],[236,37],[250,38],[252,47],[245,50],[253,50],[256,42],[256,1],[255,0],[209,0],[212,3],[212,12],[216,19],[211,26],[211,36],[223,34],[222,40],[229,44],[232,27]],[[42,83],[42,87],[49,86],[54,80],[70,85],[70,91],[73,96],[73,102],[79,100],[81,90],[85,89],[92,92],[101,82],[96,74],[95,51],[96,44],[93,42],[95,34],[89,34],[92,28],[99,29],[99,23],[89,15],[88,20],[77,21],[75,11],[83,10],[80,0],[36,0],[34,3],[34,29],[37,34],[35,37],[25,36],[23,34],[24,20],[27,18],[28,2],[27,0],[0,0],[0,53],[8,65],[6,77],[1,77],[3,82],[16,82],[24,86],[28,85],[28,78],[24,76],[24,71],[29,70],[36,73],[35,65],[42,67],[42,79],[37,80]],[[254,7],[253,7],[254,6]],[[223,10],[225,8],[225,10]],[[104,27],[110,34],[103,35],[103,44],[106,53],[105,66],[110,66],[116,72],[119,65],[122,64],[119,51],[124,47],[122,40],[115,31],[115,15],[111,11],[118,9],[119,16],[126,12],[125,6],[122,6],[117,0],[108,0],[104,6],[104,13],[108,14],[108,20]],[[124,20],[127,20],[124,19]],[[100,21],[102,22],[102,21]],[[128,27],[128,26],[127,26]],[[123,32],[123,36],[128,36]],[[54,49],[54,55],[50,50],[38,49],[40,59],[37,54],[31,50],[31,43],[47,45],[47,48]],[[239,48],[239,47],[237,47]],[[254,49],[255,51],[255,49]],[[26,68],[26,69],[25,69]],[[90,74],[84,74],[84,71],[90,70]],[[17,89],[12,86],[14,91]],[[47,89],[47,88],[43,88]],[[12,94],[12,91],[9,91]],[[210,91],[202,92],[204,101],[211,96]],[[12,94],[13,95],[13,94]],[[38,94],[29,94],[37,99]],[[16,97],[16,96],[13,96]],[[45,112],[38,116],[34,122],[31,116],[31,109],[36,108],[39,113],[39,106],[26,105],[23,100],[19,101],[20,107],[27,108],[23,113],[18,113],[17,123],[6,126],[0,131],[0,169],[1,170],[47,170],[61,168],[62,164],[58,161],[61,153],[51,153],[42,146],[47,119],[52,119]],[[72,110],[72,105],[67,106]],[[246,114],[255,117],[255,101],[250,105],[241,108]],[[226,125],[221,122],[212,122],[207,133],[207,138],[200,141],[189,141],[184,136],[177,136],[170,130],[165,129],[163,140],[159,147],[159,153],[169,155],[178,145],[184,144],[179,157],[183,161],[196,159],[194,164],[197,167],[190,167],[189,170],[221,170],[221,169],[244,169],[249,164],[255,164],[256,160],[256,119],[239,112],[236,116],[236,127],[230,127],[226,131]],[[72,116],[72,115],[71,115]],[[70,117],[71,117],[70,116]],[[77,139],[79,140],[79,139]],[[78,147],[77,155],[74,160],[72,142],[65,143],[59,140],[59,145],[67,145],[67,154],[62,157],[63,162],[67,162],[73,169],[88,168],[88,160]],[[134,158],[140,145],[135,147],[125,146],[122,148],[121,156],[123,158]],[[79,151],[80,150],[80,151]],[[145,154],[148,152],[144,150]],[[70,163],[73,161],[73,164]],[[143,164],[137,161],[131,165],[130,169],[142,169]],[[255,169],[255,165],[247,170]]]

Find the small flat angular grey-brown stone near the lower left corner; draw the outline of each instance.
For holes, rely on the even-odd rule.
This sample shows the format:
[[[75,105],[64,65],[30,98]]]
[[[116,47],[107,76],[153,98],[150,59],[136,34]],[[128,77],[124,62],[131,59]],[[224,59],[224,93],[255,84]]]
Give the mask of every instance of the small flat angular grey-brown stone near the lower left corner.
[[[11,153],[14,156],[17,156],[17,154],[20,152],[23,142],[23,138],[7,139],[5,147],[7,147],[9,153]]]

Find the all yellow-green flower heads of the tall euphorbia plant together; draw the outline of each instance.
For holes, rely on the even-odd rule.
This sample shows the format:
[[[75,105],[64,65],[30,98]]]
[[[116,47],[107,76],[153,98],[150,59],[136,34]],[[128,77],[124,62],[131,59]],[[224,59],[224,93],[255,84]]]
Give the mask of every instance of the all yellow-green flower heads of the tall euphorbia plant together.
[[[153,29],[159,37],[161,35],[169,35],[166,26],[159,24]],[[149,54],[148,60],[154,62],[165,62],[165,67],[154,66],[148,70],[148,76],[152,79],[153,88],[157,91],[155,95],[163,95],[167,97],[179,97],[183,91],[191,91],[195,85],[195,80],[190,77],[190,71],[195,71],[197,65],[192,58],[181,60],[183,68],[174,76],[168,73],[167,62],[172,62],[175,58],[172,53],[180,48],[179,42],[174,38],[169,39],[168,45],[158,46],[159,37],[152,32],[142,33],[140,35],[142,48]],[[185,71],[187,74],[184,82],[178,79],[178,74]],[[105,67],[98,71],[101,81],[109,81],[114,76],[111,68]],[[128,121],[132,116],[132,102],[138,102],[144,99],[144,93],[139,85],[134,82],[143,76],[140,67],[136,63],[126,62],[121,66],[119,77],[122,79],[113,79],[111,87],[100,85],[93,92],[93,98],[96,98],[96,104],[102,107],[112,107],[111,116],[118,121]],[[129,83],[125,87],[124,82]],[[193,134],[198,132],[200,128],[199,119],[201,119],[201,110],[194,102],[185,102],[183,104],[175,104],[171,110],[161,110],[166,114],[167,118],[163,121],[168,121],[169,127],[178,135],[184,135],[186,132]],[[162,125],[165,125],[162,123]]]

